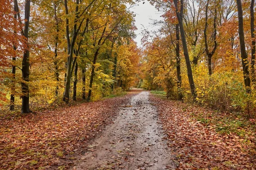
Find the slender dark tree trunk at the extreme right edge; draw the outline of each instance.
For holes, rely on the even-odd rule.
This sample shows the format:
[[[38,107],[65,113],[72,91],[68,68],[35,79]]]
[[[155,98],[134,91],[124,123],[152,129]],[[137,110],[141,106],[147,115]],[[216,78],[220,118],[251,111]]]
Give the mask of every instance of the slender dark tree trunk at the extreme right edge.
[[[254,0],[251,0],[250,4],[250,30],[252,38],[252,47],[251,47],[251,73],[252,73],[252,82],[256,82],[255,75],[255,34],[254,34]]]

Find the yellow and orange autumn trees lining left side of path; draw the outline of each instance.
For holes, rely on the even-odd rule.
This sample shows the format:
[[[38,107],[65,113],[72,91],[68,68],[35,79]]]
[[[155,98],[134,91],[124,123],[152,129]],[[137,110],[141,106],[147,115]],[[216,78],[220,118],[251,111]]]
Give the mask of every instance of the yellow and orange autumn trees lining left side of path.
[[[2,90],[3,99],[12,96],[11,110],[14,105],[20,105],[15,96],[23,100],[22,112],[29,113],[30,96],[34,102],[42,102],[40,98],[44,95],[41,104],[59,98],[68,103],[70,94],[73,100],[81,95],[90,101],[111,94],[115,88],[128,88],[134,81],[136,69],[133,68],[139,62],[140,51],[132,40],[134,14],[127,4],[133,2],[45,0],[30,6],[29,0],[9,0],[8,8],[1,12],[7,10],[5,17],[12,20],[4,22],[10,23],[12,34],[26,40],[23,44],[29,47],[21,52],[11,40],[8,41],[11,45],[3,44],[6,51],[12,51],[5,59],[9,64],[3,66],[10,72],[11,64],[12,74],[2,76],[2,80],[12,80]],[[24,13],[18,8],[24,8]],[[21,15],[25,16],[24,20]],[[19,53],[15,52],[16,48]],[[11,63],[12,58],[16,61]]]

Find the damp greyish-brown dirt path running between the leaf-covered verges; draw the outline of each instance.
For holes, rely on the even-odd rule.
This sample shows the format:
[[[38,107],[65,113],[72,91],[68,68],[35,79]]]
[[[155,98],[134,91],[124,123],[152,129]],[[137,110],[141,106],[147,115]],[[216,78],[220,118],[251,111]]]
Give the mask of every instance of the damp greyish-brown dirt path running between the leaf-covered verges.
[[[87,152],[73,170],[165,170],[173,169],[157,111],[149,92],[132,97],[113,124],[88,144]]]

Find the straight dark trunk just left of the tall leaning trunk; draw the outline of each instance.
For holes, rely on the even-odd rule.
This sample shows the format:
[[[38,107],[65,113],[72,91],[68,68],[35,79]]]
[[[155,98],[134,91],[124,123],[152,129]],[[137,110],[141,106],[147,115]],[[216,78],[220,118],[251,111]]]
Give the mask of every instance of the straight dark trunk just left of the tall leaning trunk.
[[[178,86],[178,99],[182,100],[183,95],[181,91],[181,74],[180,74],[180,35],[179,24],[175,26],[176,31],[176,68],[177,68],[177,86]]]

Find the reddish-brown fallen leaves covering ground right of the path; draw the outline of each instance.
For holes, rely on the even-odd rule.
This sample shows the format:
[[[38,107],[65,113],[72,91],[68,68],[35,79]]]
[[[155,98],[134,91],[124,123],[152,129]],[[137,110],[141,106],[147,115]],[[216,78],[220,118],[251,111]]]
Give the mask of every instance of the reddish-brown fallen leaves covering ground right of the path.
[[[209,110],[153,95],[150,99],[157,107],[177,169],[256,168],[255,144],[244,144],[244,139],[235,133],[219,134],[206,119],[195,119],[195,115]],[[251,132],[248,139],[255,137],[255,130]]]

